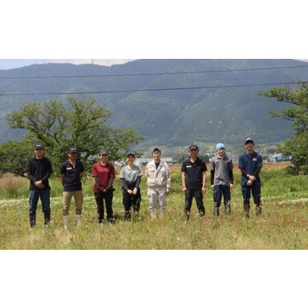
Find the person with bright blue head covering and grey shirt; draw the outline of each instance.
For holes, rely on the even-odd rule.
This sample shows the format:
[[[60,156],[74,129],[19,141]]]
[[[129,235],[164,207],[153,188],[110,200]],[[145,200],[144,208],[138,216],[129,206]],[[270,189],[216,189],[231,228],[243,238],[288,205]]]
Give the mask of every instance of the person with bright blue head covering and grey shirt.
[[[222,196],[224,196],[224,212],[231,214],[231,193],[233,188],[233,162],[226,155],[223,143],[216,144],[217,155],[211,159],[211,189],[214,190],[214,216],[219,216]]]

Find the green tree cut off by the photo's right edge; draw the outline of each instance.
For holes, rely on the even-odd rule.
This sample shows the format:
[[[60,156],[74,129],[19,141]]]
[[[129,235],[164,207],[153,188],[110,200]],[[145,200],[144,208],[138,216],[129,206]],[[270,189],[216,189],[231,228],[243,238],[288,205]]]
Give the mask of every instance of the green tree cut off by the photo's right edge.
[[[291,120],[294,128],[294,136],[285,140],[277,149],[284,155],[292,156],[293,166],[290,171],[294,174],[308,174],[308,84],[303,82],[296,89],[273,88],[260,94],[293,105],[280,112],[270,113],[272,116]]]

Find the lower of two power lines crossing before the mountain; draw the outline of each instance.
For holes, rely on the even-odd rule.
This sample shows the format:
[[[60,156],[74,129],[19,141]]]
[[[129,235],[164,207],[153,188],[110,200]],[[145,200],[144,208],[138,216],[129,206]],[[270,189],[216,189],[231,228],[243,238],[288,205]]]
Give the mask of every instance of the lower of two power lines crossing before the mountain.
[[[288,84],[303,84],[308,81],[293,81],[293,82],[277,82],[272,84],[238,84],[231,86],[200,86],[200,87],[186,87],[186,88],[156,88],[156,89],[131,89],[131,90],[105,90],[105,91],[89,91],[89,92],[49,92],[49,93],[9,93],[2,94],[4,96],[26,96],[26,95],[62,95],[62,94],[103,94],[103,93],[120,93],[120,92],[148,92],[148,91],[169,91],[169,90],[200,90],[200,89],[217,89],[217,88],[238,88],[248,86],[278,86]]]

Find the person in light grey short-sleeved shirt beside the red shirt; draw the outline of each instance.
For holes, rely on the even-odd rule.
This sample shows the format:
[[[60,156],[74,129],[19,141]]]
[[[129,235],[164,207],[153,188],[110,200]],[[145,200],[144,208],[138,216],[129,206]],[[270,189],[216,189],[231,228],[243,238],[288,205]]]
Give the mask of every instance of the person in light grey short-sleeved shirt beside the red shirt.
[[[120,180],[123,187],[123,205],[124,205],[124,219],[131,219],[131,205],[133,205],[134,214],[139,213],[141,194],[140,181],[142,177],[142,170],[134,164],[136,159],[135,154],[127,154],[127,166],[120,171]]]

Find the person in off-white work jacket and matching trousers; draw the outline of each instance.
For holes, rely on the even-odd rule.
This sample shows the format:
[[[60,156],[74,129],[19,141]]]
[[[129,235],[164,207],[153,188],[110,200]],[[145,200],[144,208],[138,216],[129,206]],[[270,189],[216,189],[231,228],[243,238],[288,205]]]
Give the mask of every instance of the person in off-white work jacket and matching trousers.
[[[170,191],[171,176],[168,164],[160,159],[162,151],[153,149],[153,160],[146,165],[145,176],[148,187],[151,220],[164,218],[166,196]]]

